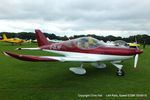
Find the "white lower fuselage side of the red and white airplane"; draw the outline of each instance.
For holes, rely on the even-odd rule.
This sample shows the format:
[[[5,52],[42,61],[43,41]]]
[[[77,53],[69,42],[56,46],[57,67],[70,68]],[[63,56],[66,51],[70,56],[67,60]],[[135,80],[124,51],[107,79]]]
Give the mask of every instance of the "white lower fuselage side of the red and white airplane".
[[[56,50],[47,50],[43,49],[43,51],[51,52],[51,53],[56,53],[56,54],[61,54],[65,55],[66,57],[79,57],[79,58],[90,58],[91,61],[92,59],[95,59],[96,61],[116,61],[116,60],[126,60],[130,59],[133,56],[119,56],[119,55],[104,55],[104,54],[89,54],[89,53],[77,53],[77,52],[67,52],[67,51],[56,51]]]

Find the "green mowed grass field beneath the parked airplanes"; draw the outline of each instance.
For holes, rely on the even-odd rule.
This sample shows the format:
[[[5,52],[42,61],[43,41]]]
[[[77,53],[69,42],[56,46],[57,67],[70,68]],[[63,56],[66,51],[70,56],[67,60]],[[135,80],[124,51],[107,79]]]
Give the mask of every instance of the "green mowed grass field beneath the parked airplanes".
[[[0,100],[150,100],[150,46],[139,56],[137,70],[134,59],[124,61],[125,76],[116,76],[112,64],[96,69],[84,64],[85,75],[75,75],[72,62],[27,62],[7,57],[4,51],[26,55],[51,55],[43,51],[17,51],[18,47],[36,47],[24,43],[11,46],[0,42]],[[79,97],[84,94],[102,94],[103,97]],[[147,94],[147,97],[106,97],[107,94]]]

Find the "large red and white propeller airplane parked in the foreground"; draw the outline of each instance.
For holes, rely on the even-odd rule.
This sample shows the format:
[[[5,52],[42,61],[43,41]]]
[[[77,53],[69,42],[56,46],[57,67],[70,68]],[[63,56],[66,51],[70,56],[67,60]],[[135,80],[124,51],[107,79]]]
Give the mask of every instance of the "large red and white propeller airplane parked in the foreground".
[[[136,69],[138,54],[143,52],[142,50],[133,48],[108,47],[99,40],[91,37],[81,37],[59,43],[50,43],[40,30],[35,30],[35,32],[38,41],[38,47],[18,48],[18,50],[42,50],[61,54],[64,55],[64,57],[20,55],[10,52],[4,52],[4,54],[25,61],[81,62],[80,67],[69,68],[70,71],[74,72],[75,74],[86,73],[86,70],[83,68],[83,63],[88,62],[96,68],[105,68],[106,64],[102,62],[109,61],[118,68],[117,75],[123,76],[123,65],[118,63],[135,56],[134,69]]]

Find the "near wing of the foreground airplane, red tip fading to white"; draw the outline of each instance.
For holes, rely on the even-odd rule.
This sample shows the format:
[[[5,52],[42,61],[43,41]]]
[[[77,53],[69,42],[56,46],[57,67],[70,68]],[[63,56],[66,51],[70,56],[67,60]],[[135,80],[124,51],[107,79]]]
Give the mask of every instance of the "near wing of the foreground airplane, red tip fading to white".
[[[30,55],[20,55],[10,52],[4,52],[5,55],[25,60],[25,61],[60,61],[60,62],[95,62],[98,61],[96,58],[87,57],[61,57],[61,56],[30,56]]]

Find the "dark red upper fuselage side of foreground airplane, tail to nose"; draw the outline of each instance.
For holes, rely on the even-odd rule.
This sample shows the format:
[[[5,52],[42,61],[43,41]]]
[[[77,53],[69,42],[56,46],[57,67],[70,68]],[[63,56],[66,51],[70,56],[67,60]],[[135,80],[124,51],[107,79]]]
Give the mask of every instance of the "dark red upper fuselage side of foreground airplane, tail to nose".
[[[100,46],[94,49],[80,49],[78,48],[73,41],[72,47],[67,47],[65,42],[62,43],[54,43],[51,45],[45,45],[40,47],[41,49],[48,50],[57,50],[57,51],[66,51],[66,52],[77,52],[77,53],[88,53],[88,54],[104,54],[104,55],[120,55],[120,56],[131,56],[136,55],[137,50],[134,48],[117,48],[117,47],[105,47]],[[138,50],[138,54],[142,53],[141,50]]]

